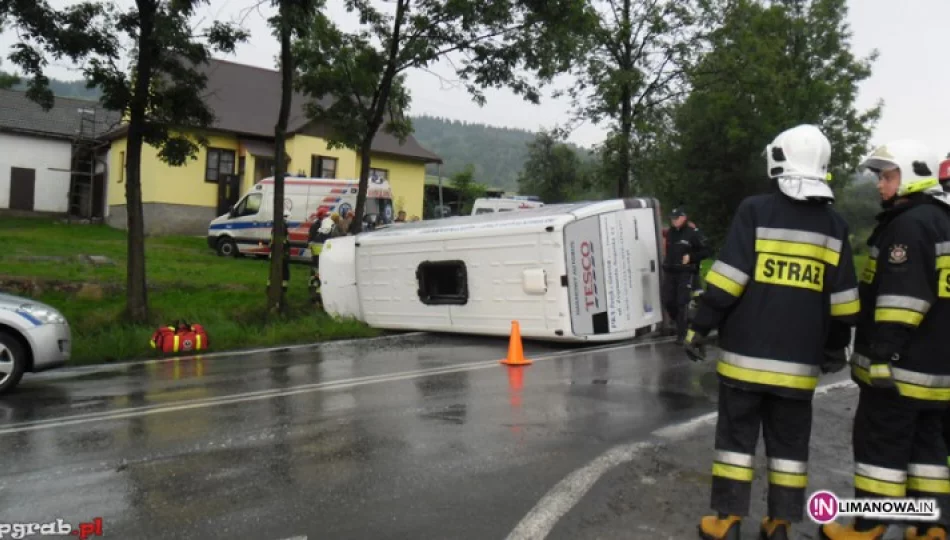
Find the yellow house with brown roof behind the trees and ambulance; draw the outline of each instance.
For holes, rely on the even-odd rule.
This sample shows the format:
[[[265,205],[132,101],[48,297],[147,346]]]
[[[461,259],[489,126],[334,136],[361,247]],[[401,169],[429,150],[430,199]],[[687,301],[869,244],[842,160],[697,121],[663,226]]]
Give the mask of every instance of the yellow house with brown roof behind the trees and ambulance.
[[[257,181],[274,172],[274,126],[280,108],[280,74],[275,70],[211,60],[205,102],[215,115],[203,133],[208,140],[197,159],[181,167],[165,164],[158,150],[142,149],[142,202],[147,234],[204,234],[208,222],[234,204]],[[310,122],[306,98],[295,94],[287,125],[287,170],[295,176],[359,178],[360,156],[327,148],[327,128]],[[109,182],[106,221],[126,227],[125,155],[127,127],[106,136]],[[380,131],[373,142],[372,171],[389,180],[395,210],[422,216],[425,166],[442,159],[412,136],[403,144]]]

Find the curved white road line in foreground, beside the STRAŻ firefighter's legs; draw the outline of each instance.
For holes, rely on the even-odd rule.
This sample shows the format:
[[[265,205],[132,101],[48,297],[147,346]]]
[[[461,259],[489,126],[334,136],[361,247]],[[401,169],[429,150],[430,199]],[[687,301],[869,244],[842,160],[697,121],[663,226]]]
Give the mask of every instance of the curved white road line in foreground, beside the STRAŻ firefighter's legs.
[[[850,386],[855,386],[851,380],[839,381],[816,388],[815,394],[827,394],[832,390]],[[515,526],[507,540],[545,538],[558,521],[584,498],[584,495],[607,471],[633,461],[644,450],[685,437],[700,427],[712,424],[718,416],[716,412],[703,414],[679,424],[654,430],[650,434],[654,440],[620,444],[610,448],[587,465],[565,476],[551,488]]]

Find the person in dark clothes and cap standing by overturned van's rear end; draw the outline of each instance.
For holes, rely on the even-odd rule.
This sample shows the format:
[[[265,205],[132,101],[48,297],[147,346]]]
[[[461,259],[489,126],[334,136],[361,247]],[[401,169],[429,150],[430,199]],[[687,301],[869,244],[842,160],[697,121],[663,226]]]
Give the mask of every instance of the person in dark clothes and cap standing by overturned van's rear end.
[[[679,208],[670,214],[663,261],[663,307],[676,324],[677,343],[686,335],[686,312],[697,286],[699,263],[709,257],[706,238]]]

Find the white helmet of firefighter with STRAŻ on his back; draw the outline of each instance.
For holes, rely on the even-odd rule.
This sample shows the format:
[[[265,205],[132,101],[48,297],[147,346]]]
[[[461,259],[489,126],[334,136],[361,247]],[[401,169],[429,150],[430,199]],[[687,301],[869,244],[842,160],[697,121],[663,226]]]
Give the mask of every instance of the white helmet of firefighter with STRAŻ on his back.
[[[811,124],[802,124],[780,133],[765,147],[769,178],[778,181],[785,195],[798,200],[834,200],[828,185],[831,143]]]

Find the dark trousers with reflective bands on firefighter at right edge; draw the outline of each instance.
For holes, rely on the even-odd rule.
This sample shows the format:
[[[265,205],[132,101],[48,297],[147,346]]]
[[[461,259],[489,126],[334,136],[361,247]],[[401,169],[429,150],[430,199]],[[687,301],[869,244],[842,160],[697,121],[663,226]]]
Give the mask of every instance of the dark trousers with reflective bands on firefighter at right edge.
[[[946,527],[950,469],[941,425],[945,410],[922,406],[894,389],[862,385],[852,433],[855,497],[936,499],[938,523]]]

